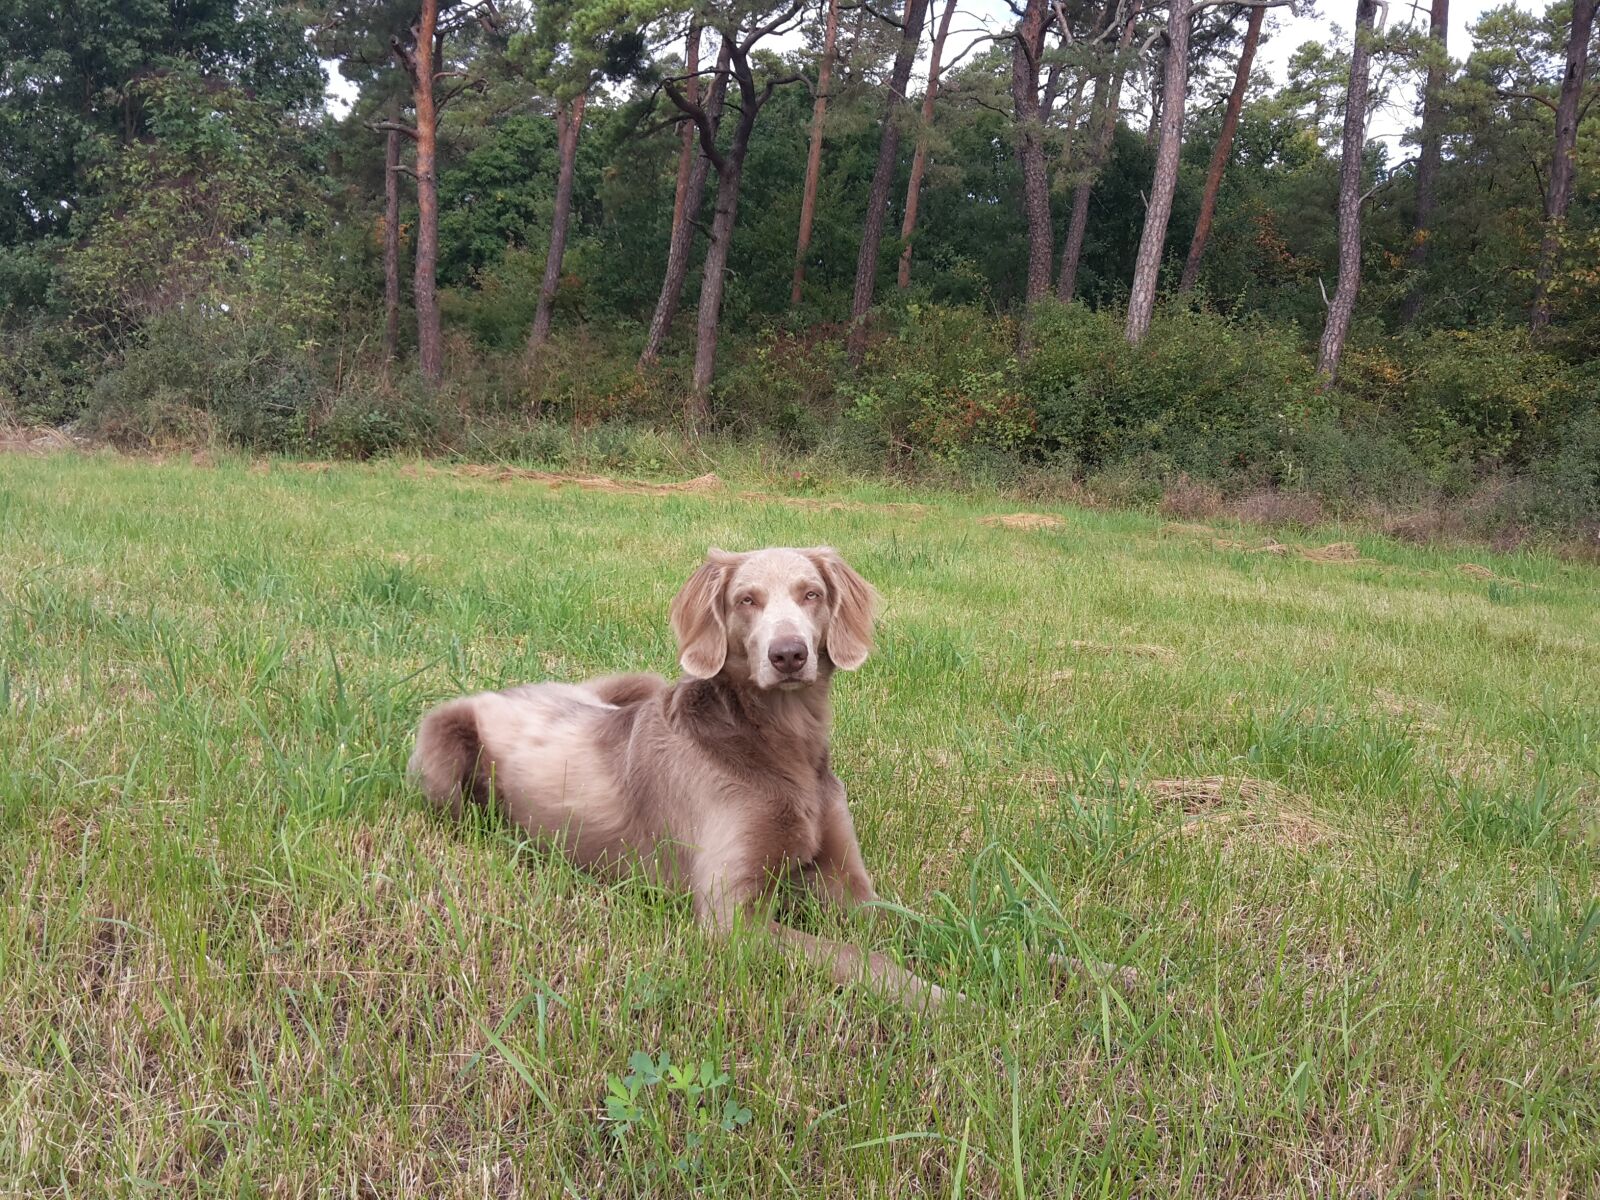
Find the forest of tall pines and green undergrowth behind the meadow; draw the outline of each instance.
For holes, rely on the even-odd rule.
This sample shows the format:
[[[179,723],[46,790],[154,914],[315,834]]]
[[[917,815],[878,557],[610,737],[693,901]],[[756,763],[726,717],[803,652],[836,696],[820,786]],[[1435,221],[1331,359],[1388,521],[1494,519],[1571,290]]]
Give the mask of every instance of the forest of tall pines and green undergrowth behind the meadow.
[[[0,0],[0,422],[1592,546],[1595,0],[1291,11]]]

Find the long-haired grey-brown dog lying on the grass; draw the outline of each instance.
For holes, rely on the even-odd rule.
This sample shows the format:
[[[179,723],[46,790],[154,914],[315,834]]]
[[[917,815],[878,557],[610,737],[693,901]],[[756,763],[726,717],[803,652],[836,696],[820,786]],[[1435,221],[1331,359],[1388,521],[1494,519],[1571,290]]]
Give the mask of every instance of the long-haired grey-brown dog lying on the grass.
[[[715,934],[765,928],[840,986],[866,978],[933,1008],[944,992],[885,955],[765,918],[781,880],[843,910],[877,899],[829,766],[829,686],[867,661],[877,600],[832,547],[714,547],[672,602],[677,683],[632,674],[464,696],[422,718],[410,771],[458,816],[493,803],[586,869],[686,888]]]

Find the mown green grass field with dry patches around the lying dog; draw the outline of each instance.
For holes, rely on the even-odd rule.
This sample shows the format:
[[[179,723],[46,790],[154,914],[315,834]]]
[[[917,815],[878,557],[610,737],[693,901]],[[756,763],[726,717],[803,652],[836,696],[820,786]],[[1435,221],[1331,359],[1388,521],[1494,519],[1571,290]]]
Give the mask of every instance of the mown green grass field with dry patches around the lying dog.
[[[1600,573],[1011,510],[0,459],[0,1194],[1600,1194]],[[928,1018],[402,774],[816,542]]]

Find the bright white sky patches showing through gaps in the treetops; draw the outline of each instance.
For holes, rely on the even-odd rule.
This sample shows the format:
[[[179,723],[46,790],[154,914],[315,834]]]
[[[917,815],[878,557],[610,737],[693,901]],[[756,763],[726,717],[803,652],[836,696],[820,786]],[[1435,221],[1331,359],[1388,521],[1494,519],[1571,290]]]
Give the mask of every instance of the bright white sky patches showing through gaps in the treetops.
[[[1501,0],[1451,0],[1448,42],[1451,58],[1459,61],[1467,56],[1470,50],[1467,27],[1490,8],[1498,8],[1499,3]],[[1542,8],[1542,0],[1515,0],[1515,3],[1518,8],[1528,11]],[[1275,83],[1285,80],[1290,56],[1298,46],[1306,42],[1349,45],[1350,29],[1355,24],[1354,0],[1314,0],[1314,3],[1298,5],[1298,8],[1301,10],[1299,13],[1288,8],[1274,8],[1267,13],[1262,45],[1256,54],[1256,70],[1270,74]],[[962,0],[962,6],[952,22],[946,59],[949,61],[955,54],[960,54],[963,48],[963,40],[957,38],[957,30],[973,29],[979,24],[998,30],[1014,22],[1016,16],[1005,5],[1005,0]],[[1414,22],[1426,29],[1426,0],[1390,0],[1387,24],[1392,27],[1403,22]],[[786,42],[798,43],[798,40],[797,35],[792,35],[790,38],[779,38],[774,45],[776,48],[787,48]],[[971,40],[971,35],[965,38],[966,43]],[[342,115],[350,107],[354,88],[339,75],[336,64],[323,62],[323,69],[328,74],[328,107],[336,115]],[[1370,117],[1366,136],[1368,139],[1381,138],[1387,142],[1390,162],[1405,157],[1400,139],[1414,123],[1414,106],[1416,88],[1400,88],[1387,109],[1378,110]]]

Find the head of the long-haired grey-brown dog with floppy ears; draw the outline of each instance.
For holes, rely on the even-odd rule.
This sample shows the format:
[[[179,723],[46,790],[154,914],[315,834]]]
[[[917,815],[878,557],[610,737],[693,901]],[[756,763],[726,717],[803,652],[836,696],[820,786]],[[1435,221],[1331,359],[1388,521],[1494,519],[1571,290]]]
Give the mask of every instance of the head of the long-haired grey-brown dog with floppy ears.
[[[824,654],[845,670],[867,661],[877,598],[827,546],[712,549],[672,602],[678,662],[699,678],[728,672],[763,690],[803,688]]]

